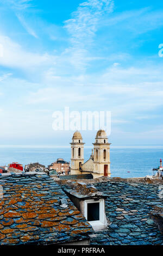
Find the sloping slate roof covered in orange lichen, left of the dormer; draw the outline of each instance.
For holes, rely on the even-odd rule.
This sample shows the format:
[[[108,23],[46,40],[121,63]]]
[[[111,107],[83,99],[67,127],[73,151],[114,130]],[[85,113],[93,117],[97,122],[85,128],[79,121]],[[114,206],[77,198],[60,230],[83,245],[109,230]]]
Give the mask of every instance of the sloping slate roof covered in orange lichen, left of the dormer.
[[[92,228],[46,174],[2,174],[0,245],[48,245],[89,238]],[[66,208],[60,199],[67,199]]]

